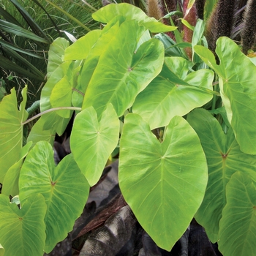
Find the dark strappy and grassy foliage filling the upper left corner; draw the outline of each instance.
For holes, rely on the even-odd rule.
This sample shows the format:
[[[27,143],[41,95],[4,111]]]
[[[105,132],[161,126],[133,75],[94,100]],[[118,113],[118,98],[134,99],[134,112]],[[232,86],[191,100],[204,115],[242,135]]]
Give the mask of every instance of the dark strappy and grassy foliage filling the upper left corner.
[[[15,87],[19,94],[28,84],[29,105],[39,99],[50,43],[57,37],[72,38],[69,34],[78,39],[99,27],[91,13],[102,6],[101,1],[86,3],[78,0],[0,1],[0,75],[1,86],[8,93]]]

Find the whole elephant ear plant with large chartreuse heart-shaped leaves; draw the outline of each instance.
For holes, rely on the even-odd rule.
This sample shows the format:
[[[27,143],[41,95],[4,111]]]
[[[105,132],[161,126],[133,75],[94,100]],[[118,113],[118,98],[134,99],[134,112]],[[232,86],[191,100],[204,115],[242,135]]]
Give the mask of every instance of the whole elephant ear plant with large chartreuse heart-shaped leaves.
[[[223,255],[254,255],[255,64],[227,37],[217,64],[202,20],[190,60],[189,43],[157,34],[176,27],[137,7],[109,4],[93,18],[104,29],[50,46],[41,113],[29,118],[26,87],[19,108],[14,89],[0,103],[0,255],[50,252],[116,148],[121,193],[158,246],[170,251],[195,217]],[[74,111],[72,153],[56,166],[54,136]]]

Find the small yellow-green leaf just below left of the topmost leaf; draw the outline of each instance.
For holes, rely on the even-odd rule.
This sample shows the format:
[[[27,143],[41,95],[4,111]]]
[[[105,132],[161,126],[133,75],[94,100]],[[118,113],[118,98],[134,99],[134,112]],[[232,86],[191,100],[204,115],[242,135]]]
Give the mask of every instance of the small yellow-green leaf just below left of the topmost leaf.
[[[80,37],[65,50],[64,60],[72,61],[75,59],[86,59],[91,48],[94,46],[95,42],[97,42],[101,34],[102,31],[96,29],[90,31],[85,36]]]

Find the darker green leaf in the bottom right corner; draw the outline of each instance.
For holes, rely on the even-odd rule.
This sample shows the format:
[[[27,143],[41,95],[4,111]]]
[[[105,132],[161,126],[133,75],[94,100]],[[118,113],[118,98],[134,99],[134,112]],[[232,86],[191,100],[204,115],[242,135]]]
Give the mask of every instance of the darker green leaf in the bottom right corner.
[[[255,181],[243,171],[227,183],[227,204],[219,222],[219,250],[225,256],[255,255]]]

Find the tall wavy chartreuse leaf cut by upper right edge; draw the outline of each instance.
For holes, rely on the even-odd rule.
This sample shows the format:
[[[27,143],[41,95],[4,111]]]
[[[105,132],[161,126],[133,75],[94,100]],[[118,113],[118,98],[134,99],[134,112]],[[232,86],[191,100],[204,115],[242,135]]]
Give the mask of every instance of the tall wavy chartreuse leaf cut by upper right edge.
[[[256,66],[227,37],[217,40],[219,65],[210,50],[195,46],[195,51],[219,75],[222,102],[241,151],[256,154]]]

